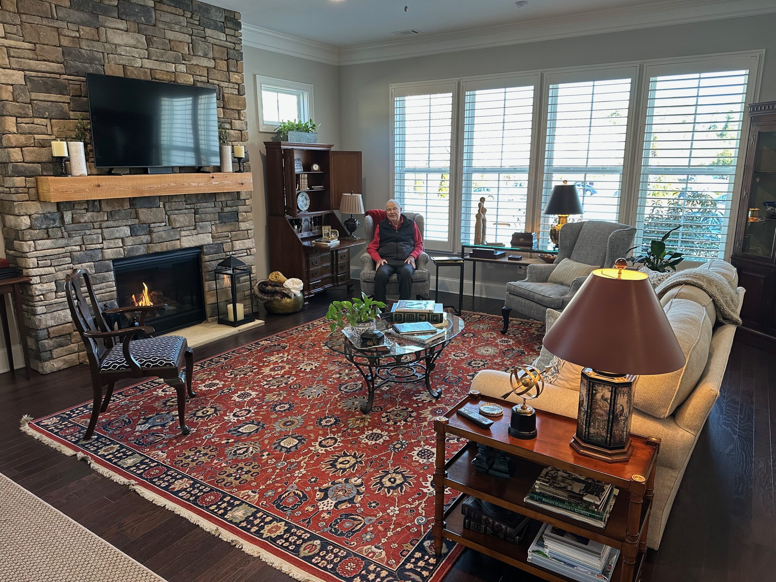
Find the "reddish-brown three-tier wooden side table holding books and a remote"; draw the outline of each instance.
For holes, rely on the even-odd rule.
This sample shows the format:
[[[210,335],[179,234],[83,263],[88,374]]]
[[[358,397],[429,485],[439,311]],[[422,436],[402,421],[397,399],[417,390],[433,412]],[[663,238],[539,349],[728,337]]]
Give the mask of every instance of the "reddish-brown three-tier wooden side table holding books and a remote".
[[[490,428],[480,428],[456,414],[456,411],[466,404],[476,409],[484,401],[501,404],[504,407],[504,415],[492,418],[494,424],[491,424]],[[442,538],[451,539],[544,580],[571,582],[570,578],[562,574],[528,562],[528,547],[539,532],[539,525],[535,522],[528,526],[527,534],[518,544],[464,528],[461,504],[467,496],[471,495],[619,549],[620,556],[611,575],[611,582],[639,580],[646,556],[646,535],[650,525],[660,438],[631,435],[634,449],[627,462],[603,462],[581,456],[569,446],[571,437],[577,430],[577,421],[573,418],[536,411],[536,429],[539,435],[531,440],[511,437],[508,427],[513,406],[514,403],[507,400],[479,394],[469,395],[445,413],[445,416],[435,418],[433,532],[436,552],[442,551]],[[446,435],[467,438],[469,444],[445,462]],[[503,478],[478,472],[472,465],[472,459],[476,455],[475,443],[507,452],[511,456],[511,476]],[[611,483],[619,489],[614,508],[604,528],[596,528],[583,521],[566,518],[523,501],[545,466],[556,466],[592,477]],[[447,511],[445,511],[445,487],[461,492]]]

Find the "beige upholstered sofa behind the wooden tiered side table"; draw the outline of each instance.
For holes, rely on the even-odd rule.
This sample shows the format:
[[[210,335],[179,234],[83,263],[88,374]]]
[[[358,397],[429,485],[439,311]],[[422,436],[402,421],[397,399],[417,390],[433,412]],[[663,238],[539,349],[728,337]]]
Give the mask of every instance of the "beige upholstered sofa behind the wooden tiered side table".
[[[737,287],[738,275],[733,265],[723,261],[710,261],[702,268],[708,268],[725,277],[729,285],[736,290],[740,311],[744,289]],[[704,308],[712,325],[715,324],[714,305],[711,298],[701,289],[694,286],[671,289],[663,296],[661,303],[665,307],[671,300],[691,300],[698,303]],[[674,305],[681,304],[681,301],[672,303]],[[686,304],[684,305],[686,306]],[[697,315],[699,311],[700,317],[704,318],[702,311],[697,310],[697,308],[695,314]],[[672,325],[674,325],[673,321]],[[650,548],[657,549],[660,546],[660,538],[663,536],[663,529],[666,526],[671,505],[674,504],[674,497],[679,489],[682,476],[684,476],[684,469],[687,467],[693,449],[695,449],[695,442],[698,441],[698,435],[700,435],[708,413],[711,412],[712,406],[719,396],[719,387],[722,384],[722,376],[725,373],[735,333],[736,326],[732,324],[716,325],[713,327],[710,341],[708,336],[705,336],[704,341],[708,341],[708,358],[705,360],[705,367],[702,368],[700,379],[695,383],[695,388],[690,389],[689,395],[683,401],[677,401],[675,395],[672,396],[675,410],[672,410],[666,417],[655,417],[639,410],[639,400],[642,403],[641,407],[650,408],[650,410],[655,408],[654,403],[645,401],[646,398],[651,397],[651,390],[654,389],[654,386],[649,387],[650,393],[643,389],[639,395],[637,380],[634,393],[636,408],[632,417],[631,430],[639,435],[656,435],[662,440],[655,477],[655,498],[650,518],[650,532],[647,540]],[[703,337],[704,334],[698,334],[698,336]],[[701,345],[699,349],[705,349],[705,346]],[[552,355],[549,357],[552,358]],[[701,366],[702,364],[703,362],[701,362]],[[650,379],[654,378],[656,376],[650,377]],[[563,414],[566,417],[577,417],[579,384],[577,382],[576,389],[572,389],[569,382],[565,382],[564,385],[567,387],[546,384],[542,395],[533,400],[532,404],[539,410]],[[509,374],[495,370],[483,370],[473,379],[472,388],[480,390],[481,393],[488,396],[501,397],[510,390]],[[670,390],[669,393],[673,394]],[[681,393],[681,390],[678,393]],[[665,395],[663,395],[664,399]],[[518,397],[510,397],[509,400],[521,401]]]

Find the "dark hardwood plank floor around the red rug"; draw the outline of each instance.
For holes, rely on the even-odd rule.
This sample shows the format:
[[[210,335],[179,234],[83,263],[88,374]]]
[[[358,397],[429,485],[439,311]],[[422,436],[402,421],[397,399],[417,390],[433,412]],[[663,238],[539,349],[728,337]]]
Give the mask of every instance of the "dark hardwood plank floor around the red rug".
[[[444,294],[446,304],[457,296]],[[266,324],[196,349],[204,359],[322,317],[332,291],[303,312],[268,316]],[[503,302],[472,300],[466,310],[500,314]],[[88,368],[48,376],[23,370],[0,374],[0,473],[54,505],[167,580],[291,578],[202,528],[151,504],[19,431],[23,414],[40,417],[90,400]],[[736,342],[722,394],[698,440],[663,535],[648,553],[644,582],[757,582],[776,580],[776,358]],[[2,580],[2,565],[0,565]],[[495,559],[467,550],[445,582],[536,580]]]

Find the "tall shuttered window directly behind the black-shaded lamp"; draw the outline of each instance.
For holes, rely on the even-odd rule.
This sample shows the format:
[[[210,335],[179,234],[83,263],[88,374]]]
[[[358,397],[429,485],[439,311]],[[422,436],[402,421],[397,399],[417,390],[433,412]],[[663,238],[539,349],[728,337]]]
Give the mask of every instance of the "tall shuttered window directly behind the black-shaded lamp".
[[[542,208],[567,180],[577,185],[580,218],[618,220],[630,88],[630,78],[549,85]],[[542,214],[542,241],[554,222]]]

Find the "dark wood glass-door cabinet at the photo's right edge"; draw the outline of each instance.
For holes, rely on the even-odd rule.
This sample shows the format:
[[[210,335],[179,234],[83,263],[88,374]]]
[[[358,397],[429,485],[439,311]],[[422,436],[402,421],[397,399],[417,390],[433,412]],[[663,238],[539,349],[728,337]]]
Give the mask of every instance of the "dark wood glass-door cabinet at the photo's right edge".
[[[776,353],[776,102],[749,106],[733,265],[743,298],[737,338]]]

